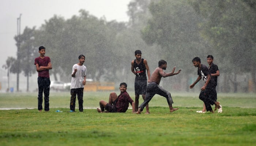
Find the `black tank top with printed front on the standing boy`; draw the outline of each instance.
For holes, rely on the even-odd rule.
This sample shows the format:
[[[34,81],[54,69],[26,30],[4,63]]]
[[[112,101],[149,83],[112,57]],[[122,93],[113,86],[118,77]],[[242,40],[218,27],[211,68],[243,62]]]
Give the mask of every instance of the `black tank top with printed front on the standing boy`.
[[[147,80],[146,66],[144,65],[143,61],[144,61],[143,58],[141,59],[140,64],[136,63],[136,59],[134,59],[134,61],[133,61],[134,69],[136,72],[135,80]]]

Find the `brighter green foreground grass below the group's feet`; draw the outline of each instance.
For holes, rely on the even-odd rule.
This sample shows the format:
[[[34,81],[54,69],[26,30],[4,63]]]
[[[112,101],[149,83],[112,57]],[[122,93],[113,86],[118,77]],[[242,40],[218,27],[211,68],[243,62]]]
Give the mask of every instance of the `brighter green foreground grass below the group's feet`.
[[[63,112],[55,112],[61,110]],[[198,114],[196,107],[170,113],[151,107],[150,115],[98,113],[95,109],[67,112],[53,108],[0,110],[0,145],[253,145],[256,108],[225,107],[223,113]]]

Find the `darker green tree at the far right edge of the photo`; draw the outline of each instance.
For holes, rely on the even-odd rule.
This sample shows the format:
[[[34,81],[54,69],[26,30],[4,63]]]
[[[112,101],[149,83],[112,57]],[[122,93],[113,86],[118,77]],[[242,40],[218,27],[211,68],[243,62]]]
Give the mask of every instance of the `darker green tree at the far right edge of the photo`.
[[[253,0],[193,0],[191,5],[204,18],[201,34],[225,60],[226,73],[251,72],[256,92],[256,3]],[[246,58],[246,59],[245,59]],[[240,69],[234,68],[239,66]],[[236,76],[234,87],[236,86]],[[236,89],[236,88],[235,88]]]

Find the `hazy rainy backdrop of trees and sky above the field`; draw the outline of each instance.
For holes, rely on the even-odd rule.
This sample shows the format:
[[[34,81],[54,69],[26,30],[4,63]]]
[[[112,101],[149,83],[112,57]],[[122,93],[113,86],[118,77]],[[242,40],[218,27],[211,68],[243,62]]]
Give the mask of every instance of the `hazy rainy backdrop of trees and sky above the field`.
[[[37,92],[39,46],[51,58],[52,90],[69,90],[72,66],[83,54],[85,90],[127,82],[134,91],[131,61],[141,50],[151,73],[161,59],[166,72],[182,69],[162,79],[169,91],[198,92],[200,85],[189,89],[198,76],[192,59],[208,66],[213,55],[217,92],[256,92],[255,0],[3,0],[0,7],[0,93]]]

